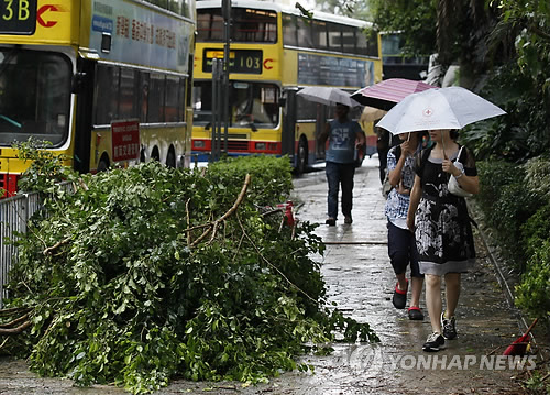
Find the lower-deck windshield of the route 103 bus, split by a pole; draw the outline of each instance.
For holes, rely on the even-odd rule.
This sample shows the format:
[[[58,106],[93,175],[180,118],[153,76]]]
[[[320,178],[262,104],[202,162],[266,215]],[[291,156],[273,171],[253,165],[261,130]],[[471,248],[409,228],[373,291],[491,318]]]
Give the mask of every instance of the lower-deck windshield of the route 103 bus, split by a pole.
[[[279,88],[274,84],[232,81],[229,91],[230,127],[275,128],[278,124]],[[194,124],[212,121],[212,83],[196,81],[194,87]]]

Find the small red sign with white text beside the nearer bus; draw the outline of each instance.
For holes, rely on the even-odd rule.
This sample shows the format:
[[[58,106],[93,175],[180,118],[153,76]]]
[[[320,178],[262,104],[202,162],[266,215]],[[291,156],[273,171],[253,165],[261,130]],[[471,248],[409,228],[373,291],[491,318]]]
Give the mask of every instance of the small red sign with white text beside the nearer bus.
[[[130,161],[140,157],[140,121],[113,121],[112,133],[112,161]]]

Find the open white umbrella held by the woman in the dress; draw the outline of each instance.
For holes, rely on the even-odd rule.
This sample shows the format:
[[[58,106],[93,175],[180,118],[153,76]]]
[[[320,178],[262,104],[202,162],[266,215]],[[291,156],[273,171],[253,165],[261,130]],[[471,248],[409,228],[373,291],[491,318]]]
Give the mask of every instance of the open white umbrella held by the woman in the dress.
[[[461,87],[428,89],[407,96],[387,112],[378,127],[393,134],[461,129],[506,112],[484,98]]]

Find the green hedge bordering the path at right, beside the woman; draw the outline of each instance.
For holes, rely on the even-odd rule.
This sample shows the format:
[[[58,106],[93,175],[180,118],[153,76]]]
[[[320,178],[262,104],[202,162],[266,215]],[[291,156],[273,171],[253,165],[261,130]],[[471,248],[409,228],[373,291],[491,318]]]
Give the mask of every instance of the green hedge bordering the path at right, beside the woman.
[[[550,316],[550,160],[524,165],[480,162],[477,196],[486,223],[521,271],[516,303],[530,315]]]

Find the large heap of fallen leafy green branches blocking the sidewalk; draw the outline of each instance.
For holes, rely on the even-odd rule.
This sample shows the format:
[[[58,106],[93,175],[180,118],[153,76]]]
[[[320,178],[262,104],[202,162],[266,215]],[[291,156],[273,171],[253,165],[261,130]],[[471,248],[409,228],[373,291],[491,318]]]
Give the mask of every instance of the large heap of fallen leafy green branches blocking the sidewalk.
[[[266,207],[288,196],[287,158],[206,172],[151,162],[75,187],[43,190],[10,274],[3,320],[19,316],[31,331],[3,350],[41,375],[133,393],[174,376],[258,382],[307,370],[296,356],[336,330],[376,340],[327,307],[315,226],[288,227]]]

